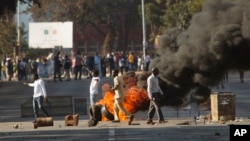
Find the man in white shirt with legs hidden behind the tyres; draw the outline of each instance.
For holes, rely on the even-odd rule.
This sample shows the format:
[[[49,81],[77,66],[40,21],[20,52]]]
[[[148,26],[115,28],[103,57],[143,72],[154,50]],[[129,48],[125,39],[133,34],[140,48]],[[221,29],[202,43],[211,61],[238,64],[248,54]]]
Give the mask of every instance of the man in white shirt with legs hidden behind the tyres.
[[[100,77],[99,77],[99,71],[98,70],[94,70],[93,72],[93,77],[90,83],[90,88],[89,88],[89,92],[90,92],[90,106],[94,105],[97,102],[97,97],[99,94],[99,83],[100,83]]]

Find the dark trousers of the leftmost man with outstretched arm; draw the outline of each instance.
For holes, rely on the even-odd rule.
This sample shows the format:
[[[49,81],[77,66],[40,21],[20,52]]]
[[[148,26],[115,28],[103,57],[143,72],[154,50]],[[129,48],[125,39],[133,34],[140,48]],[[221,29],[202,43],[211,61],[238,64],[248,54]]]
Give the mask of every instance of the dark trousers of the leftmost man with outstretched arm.
[[[34,110],[34,116],[35,116],[35,118],[39,117],[38,109],[41,109],[41,111],[47,117],[49,117],[48,112],[43,107],[43,100],[44,100],[43,96],[39,96],[39,97],[34,97],[33,98],[33,110]]]

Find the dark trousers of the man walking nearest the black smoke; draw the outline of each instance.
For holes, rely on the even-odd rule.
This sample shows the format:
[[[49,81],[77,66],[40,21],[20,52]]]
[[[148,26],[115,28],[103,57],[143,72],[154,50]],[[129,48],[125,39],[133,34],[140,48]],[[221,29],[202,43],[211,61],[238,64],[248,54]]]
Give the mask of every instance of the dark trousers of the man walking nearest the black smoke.
[[[148,121],[152,121],[154,114],[156,112],[158,116],[158,121],[163,121],[163,114],[160,107],[160,93],[153,93],[152,99],[150,100],[149,110],[148,110]]]

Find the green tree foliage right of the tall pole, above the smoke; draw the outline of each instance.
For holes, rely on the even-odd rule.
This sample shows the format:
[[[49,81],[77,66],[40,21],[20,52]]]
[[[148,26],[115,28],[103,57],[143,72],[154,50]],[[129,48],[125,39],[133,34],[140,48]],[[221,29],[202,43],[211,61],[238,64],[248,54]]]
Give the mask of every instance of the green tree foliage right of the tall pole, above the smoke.
[[[149,41],[166,29],[186,29],[193,14],[201,11],[203,0],[147,0],[145,4],[146,23],[150,24]]]

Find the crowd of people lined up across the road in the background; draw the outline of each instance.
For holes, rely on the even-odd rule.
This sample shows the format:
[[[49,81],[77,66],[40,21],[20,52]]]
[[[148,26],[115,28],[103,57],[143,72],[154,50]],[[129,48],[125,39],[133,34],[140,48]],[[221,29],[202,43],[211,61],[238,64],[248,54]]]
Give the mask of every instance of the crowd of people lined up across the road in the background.
[[[96,52],[93,56],[87,56],[77,51],[75,55],[56,52],[51,58],[40,57],[36,59],[21,58],[14,60],[6,57],[1,61],[1,80],[30,80],[33,74],[41,78],[53,78],[56,82],[71,79],[79,80],[82,76],[92,77],[92,71],[98,70],[99,77],[111,77],[112,71],[117,69],[122,75],[127,71],[148,70],[150,56],[146,55],[145,63],[142,54],[134,52],[111,52],[100,55]]]

